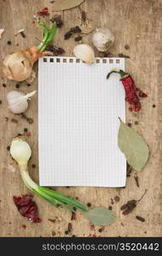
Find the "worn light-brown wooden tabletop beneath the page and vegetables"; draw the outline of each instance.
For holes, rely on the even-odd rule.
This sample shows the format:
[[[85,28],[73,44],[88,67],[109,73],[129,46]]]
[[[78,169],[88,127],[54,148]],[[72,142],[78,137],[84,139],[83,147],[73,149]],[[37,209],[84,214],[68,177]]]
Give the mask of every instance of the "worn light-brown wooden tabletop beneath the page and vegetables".
[[[33,16],[37,10],[44,7],[49,9],[51,15],[53,3],[47,0],[1,0],[0,1],[0,28],[4,28],[2,39],[0,39],[1,59],[14,49],[23,49],[28,45],[38,44],[36,38],[42,38],[42,31],[33,24]],[[161,236],[161,200],[162,200],[162,2],[161,0],[87,0],[81,4],[81,9],[87,13],[87,22],[81,25],[81,11],[79,8],[57,13],[62,16],[64,26],[58,29],[54,44],[65,49],[64,55],[70,55],[76,44],[74,38],[64,41],[64,33],[71,26],[81,26],[83,32],[91,31],[96,26],[108,26],[115,34],[115,46],[110,49],[113,55],[129,55],[126,59],[126,70],[133,74],[137,87],[148,94],[147,99],[142,101],[142,111],[134,116],[126,111],[127,122],[137,130],[148,143],[150,158],[147,166],[138,172],[139,188],[135,182],[135,172],[127,177],[125,189],[111,188],[57,188],[58,191],[73,198],[78,197],[82,204],[91,202],[92,207],[113,207],[117,215],[115,224],[105,227],[103,232],[98,232],[100,227],[91,230],[91,224],[82,212],[76,213],[76,220],[71,221],[71,213],[61,209],[55,210],[46,201],[34,196],[39,207],[41,224],[31,224],[20,216],[13,202],[13,195],[23,195],[28,192],[25,184],[20,178],[17,165],[11,159],[7,150],[11,140],[18,133],[23,133],[24,128],[31,132],[27,138],[32,147],[32,159],[29,167],[31,177],[38,182],[38,159],[37,159],[37,100],[30,102],[26,115],[34,119],[33,124],[28,124],[19,115],[8,111],[6,96],[10,90],[29,92],[37,90],[37,78],[31,87],[26,82],[20,83],[20,89],[15,88],[15,82],[8,81],[1,73],[0,83],[7,84],[0,87],[0,236]],[[14,33],[25,28],[26,38]],[[92,34],[84,35],[83,42],[92,44]],[[7,44],[8,40],[11,45]],[[18,45],[19,44],[19,45]],[[125,49],[125,45],[129,49]],[[98,56],[98,52],[96,51]],[[37,65],[35,66],[37,71]],[[46,86],[46,84],[44,84]],[[154,108],[153,108],[153,105]],[[13,119],[16,119],[13,120]],[[137,121],[138,125],[134,122]],[[31,165],[35,164],[36,168]],[[11,169],[15,168],[15,172]],[[145,197],[137,205],[130,215],[123,216],[120,207],[131,199],[139,199],[145,189],[148,189]],[[115,196],[120,201],[115,202]],[[145,222],[137,220],[139,215],[145,218]],[[52,223],[48,218],[55,219]],[[69,235],[64,235],[69,223],[73,230]],[[25,225],[23,228],[22,225]]]

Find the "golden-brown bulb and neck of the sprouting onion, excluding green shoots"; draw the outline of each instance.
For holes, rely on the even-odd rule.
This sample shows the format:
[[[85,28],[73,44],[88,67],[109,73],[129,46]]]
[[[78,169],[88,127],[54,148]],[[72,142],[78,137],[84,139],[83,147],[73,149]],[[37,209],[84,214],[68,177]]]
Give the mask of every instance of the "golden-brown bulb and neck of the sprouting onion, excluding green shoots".
[[[16,51],[5,57],[3,73],[9,80],[21,82],[29,79],[34,63],[44,55],[52,55],[52,53],[49,51],[39,53],[35,45]]]

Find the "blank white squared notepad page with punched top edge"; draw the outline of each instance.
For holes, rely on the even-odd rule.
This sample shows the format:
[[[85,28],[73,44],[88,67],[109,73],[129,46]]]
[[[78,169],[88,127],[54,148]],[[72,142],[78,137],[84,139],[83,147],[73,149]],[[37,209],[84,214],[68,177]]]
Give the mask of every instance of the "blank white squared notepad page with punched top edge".
[[[126,185],[126,158],[118,147],[125,122],[125,91],[119,74],[123,58],[75,57],[39,60],[39,182],[42,186]]]

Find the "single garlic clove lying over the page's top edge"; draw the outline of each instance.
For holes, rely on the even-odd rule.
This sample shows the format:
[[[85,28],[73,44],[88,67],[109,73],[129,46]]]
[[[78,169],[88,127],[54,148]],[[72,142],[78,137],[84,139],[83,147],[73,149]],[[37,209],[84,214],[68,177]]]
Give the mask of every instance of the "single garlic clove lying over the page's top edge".
[[[85,61],[87,64],[91,64],[95,61],[94,50],[88,44],[78,44],[73,51],[77,58]]]

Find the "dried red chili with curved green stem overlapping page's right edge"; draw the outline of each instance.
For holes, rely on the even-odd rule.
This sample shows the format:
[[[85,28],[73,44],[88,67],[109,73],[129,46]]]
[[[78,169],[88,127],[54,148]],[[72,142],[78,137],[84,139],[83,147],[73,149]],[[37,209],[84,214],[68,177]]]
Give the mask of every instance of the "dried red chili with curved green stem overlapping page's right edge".
[[[134,80],[131,78],[129,73],[124,72],[121,69],[115,68],[112,69],[107,75],[107,79],[109,79],[109,75],[111,73],[120,73],[122,84],[124,85],[126,91],[126,102],[128,102],[131,107],[130,111],[139,111],[141,109],[141,103],[137,96],[137,91],[139,91],[139,96],[146,97],[147,95],[142,92],[142,90],[138,90],[135,86]]]

